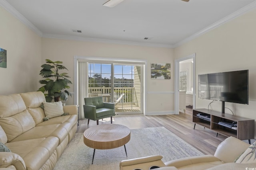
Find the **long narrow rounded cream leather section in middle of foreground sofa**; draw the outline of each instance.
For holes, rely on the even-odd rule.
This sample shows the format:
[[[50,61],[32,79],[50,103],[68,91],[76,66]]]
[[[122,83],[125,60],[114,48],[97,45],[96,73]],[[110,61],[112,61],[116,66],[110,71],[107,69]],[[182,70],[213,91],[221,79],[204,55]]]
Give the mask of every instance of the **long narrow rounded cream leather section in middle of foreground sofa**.
[[[191,164],[199,164],[205,162],[219,162],[220,160],[213,155],[202,155],[202,156],[190,156],[186,158],[180,158],[176,160],[170,160],[165,162],[166,166],[175,166],[176,168],[180,168],[182,166],[188,166]]]

